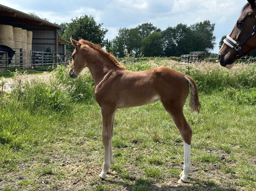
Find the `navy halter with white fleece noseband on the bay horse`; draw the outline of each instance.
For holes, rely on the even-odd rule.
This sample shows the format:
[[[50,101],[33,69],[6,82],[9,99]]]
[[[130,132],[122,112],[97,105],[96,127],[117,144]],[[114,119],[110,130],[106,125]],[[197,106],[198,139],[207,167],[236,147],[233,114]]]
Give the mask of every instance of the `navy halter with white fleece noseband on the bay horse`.
[[[237,43],[235,40],[233,40],[229,35],[226,36],[226,39],[224,39],[224,43],[226,45],[228,45],[230,48],[234,48],[236,49],[236,51],[238,52],[240,57],[244,57],[242,51],[241,51],[241,47],[243,46],[243,44],[252,36],[254,35],[254,33],[256,32],[256,22],[254,27],[252,28],[252,31],[244,38],[244,40],[242,40],[241,43]]]

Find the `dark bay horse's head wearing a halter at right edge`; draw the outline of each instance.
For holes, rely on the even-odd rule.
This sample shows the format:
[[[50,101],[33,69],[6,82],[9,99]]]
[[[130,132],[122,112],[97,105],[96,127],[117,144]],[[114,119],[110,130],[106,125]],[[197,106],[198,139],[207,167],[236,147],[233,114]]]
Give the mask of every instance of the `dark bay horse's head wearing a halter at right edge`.
[[[256,4],[255,0],[247,1],[218,53],[218,60],[223,67],[232,68],[237,59],[256,49]]]

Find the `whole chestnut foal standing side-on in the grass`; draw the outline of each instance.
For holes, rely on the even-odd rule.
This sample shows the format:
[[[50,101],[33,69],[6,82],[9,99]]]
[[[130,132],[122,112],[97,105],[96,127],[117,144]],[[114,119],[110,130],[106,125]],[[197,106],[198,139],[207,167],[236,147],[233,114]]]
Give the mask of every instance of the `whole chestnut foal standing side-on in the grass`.
[[[79,38],[71,38],[75,50],[69,75],[77,78],[88,67],[95,82],[94,95],[101,107],[104,144],[104,162],[100,178],[105,179],[113,162],[112,138],[115,112],[118,108],[134,107],[161,101],[165,110],[178,127],[184,143],[184,165],[179,183],[187,181],[191,169],[190,144],[192,130],[184,114],[190,86],[189,106],[191,111],[199,112],[198,89],[193,78],[167,67],[158,67],[141,72],[125,70],[116,58],[101,49],[99,45]]]

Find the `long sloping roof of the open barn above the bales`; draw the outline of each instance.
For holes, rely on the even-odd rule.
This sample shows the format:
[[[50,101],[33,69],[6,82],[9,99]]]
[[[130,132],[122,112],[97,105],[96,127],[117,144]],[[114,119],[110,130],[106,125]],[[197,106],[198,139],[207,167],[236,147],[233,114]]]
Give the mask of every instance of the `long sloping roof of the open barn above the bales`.
[[[61,29],[62,27],[43,19],[33,17],[29,14],[23,13],[21,11],[6,7],[0,4],[0,21],[8,21],[15,23],[24,23],[24,24],[32,24],[32,25],[41,25],[46,27],[54,27],[57,29]]]

